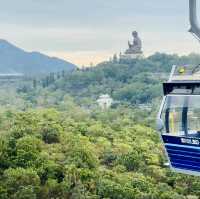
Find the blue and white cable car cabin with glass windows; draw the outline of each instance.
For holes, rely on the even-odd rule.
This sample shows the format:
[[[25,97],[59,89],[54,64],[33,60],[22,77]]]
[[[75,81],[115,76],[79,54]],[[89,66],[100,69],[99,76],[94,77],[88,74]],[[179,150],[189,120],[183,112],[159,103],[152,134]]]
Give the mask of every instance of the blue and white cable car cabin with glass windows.
[[[200,68],[174,66],[157,118],[172,170],[200,175]]]

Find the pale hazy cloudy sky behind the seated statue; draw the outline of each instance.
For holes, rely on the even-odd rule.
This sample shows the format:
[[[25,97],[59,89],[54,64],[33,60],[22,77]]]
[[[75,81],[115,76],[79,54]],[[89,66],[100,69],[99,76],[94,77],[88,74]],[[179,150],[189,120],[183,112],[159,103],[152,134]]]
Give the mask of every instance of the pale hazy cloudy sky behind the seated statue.
[[[188,0],[0,0],[0,38],[79,65],[123,52],[132,30],[145,55],[199,52],[188,29]]]

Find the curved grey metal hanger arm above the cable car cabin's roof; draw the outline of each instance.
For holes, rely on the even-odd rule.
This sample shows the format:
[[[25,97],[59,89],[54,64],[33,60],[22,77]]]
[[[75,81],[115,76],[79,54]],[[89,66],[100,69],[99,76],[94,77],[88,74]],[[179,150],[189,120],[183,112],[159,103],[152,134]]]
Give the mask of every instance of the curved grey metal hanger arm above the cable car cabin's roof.
[[[200,26],[197,19],[197,2],[196,0],[189,0],[189,11],[190,11],[190,25],[191,32],[200,41]]]

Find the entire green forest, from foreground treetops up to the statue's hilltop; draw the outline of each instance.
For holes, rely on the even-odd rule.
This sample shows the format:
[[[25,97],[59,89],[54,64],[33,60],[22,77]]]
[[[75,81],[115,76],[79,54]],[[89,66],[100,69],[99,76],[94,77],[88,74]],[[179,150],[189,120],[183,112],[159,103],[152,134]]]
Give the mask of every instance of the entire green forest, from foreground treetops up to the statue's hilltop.
[[[165,167],[154,129],[171,66],[199,63],[157,53],[2,85],[0,198],[200,198],[200,178]],[[115,103],[102,111],[105,93]]]

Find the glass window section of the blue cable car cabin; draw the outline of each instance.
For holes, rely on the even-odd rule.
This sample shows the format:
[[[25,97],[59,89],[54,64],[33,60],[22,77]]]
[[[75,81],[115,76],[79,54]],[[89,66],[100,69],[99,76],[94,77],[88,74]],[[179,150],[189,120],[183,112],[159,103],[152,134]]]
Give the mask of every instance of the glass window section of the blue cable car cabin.
[[[168,95],[161,119],[163,133],[200,138],[200,96]]]

